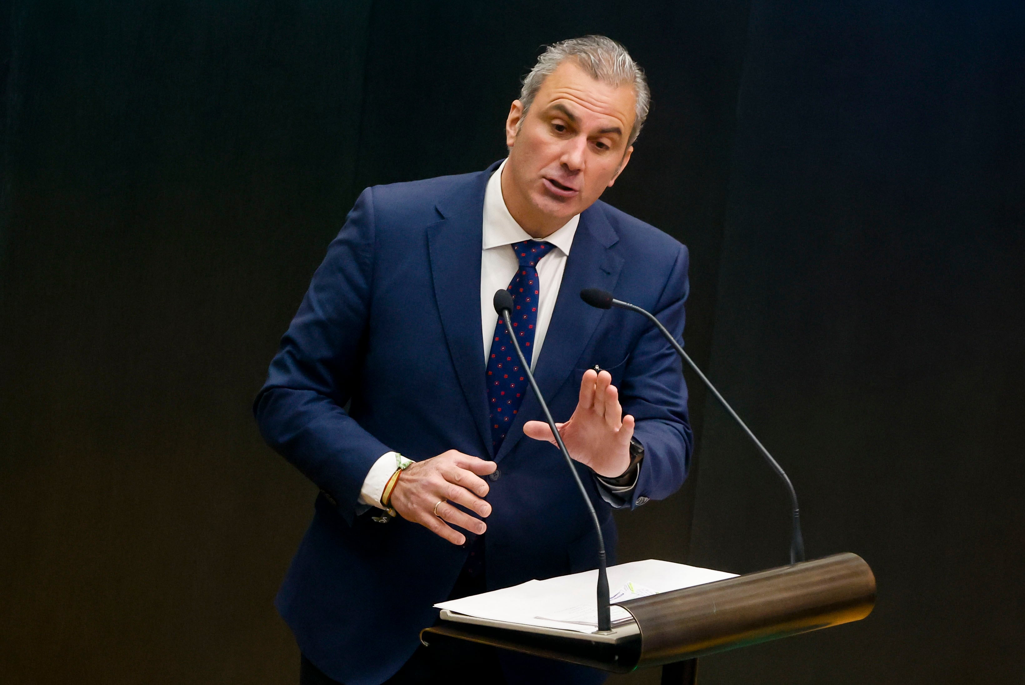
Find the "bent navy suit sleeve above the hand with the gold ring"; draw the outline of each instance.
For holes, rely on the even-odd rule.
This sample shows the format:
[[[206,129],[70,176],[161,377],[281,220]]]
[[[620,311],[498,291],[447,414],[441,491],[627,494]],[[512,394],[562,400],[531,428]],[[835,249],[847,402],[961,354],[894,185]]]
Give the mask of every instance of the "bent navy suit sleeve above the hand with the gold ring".
[[[389,448],[342,407],[366,342],[374,268],[373,190],[328,247],[253,403],[260,434],[337,502],[352,523],[360,488]]]

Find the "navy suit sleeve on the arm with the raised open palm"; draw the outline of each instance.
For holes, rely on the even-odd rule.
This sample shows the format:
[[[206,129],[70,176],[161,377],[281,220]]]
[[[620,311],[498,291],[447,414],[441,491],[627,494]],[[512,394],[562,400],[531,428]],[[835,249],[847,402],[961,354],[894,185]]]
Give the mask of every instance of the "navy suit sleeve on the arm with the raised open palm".
[[[684,301],[689,282],[687,248],[680,253],[652,313],[681,340],[684,334]],[[681,361],[672,346],[654,326],[638,340],[620,381],[623,413],[637,419],[633,437],[645,448],[637,487],[623,493],[624,507],[637,507],[638,499],[663,499],[675,492],[690,468],[694,449],[687,411],[687,384]]]

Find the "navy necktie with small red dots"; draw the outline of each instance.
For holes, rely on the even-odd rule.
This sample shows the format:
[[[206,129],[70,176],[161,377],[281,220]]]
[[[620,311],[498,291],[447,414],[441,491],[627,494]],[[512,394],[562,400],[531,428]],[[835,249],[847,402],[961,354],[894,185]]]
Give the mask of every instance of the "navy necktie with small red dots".
[[[512,295],[512,310],[509,319],[516,332],[523,356],[527,363],[533,357],[534,333],[537,328],[537,300],[541,291],[537,278],[537,263],[551,251],[551,243],[525,240],[514,243],[520,269],[508,291]],[[501,447],[509,428],[516,420],[516,413],[527,394],[527,374],[520,365],[516,349],[509,340],[508,331],[501,317],[495,326],[488,357],[488,407],[491,410],[491,446],[495,452]]]

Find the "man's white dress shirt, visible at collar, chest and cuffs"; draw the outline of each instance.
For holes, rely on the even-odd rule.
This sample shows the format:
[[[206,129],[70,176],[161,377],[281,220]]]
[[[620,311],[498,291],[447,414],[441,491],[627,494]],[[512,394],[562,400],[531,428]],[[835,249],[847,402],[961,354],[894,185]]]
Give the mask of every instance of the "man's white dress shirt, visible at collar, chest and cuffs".
[[[504,168],[505,162],[502,162],[498,169],[491,174],[487,189],[484,191],[484,221],[481,244],[481,364],[484,366],[488,364],[491,344],[495,338],[495,326],[498,324],[498,314],[493,306],[495,291],[507,288],[520,268],[520,260],[516,256],[512,244],[524,240],[534,240],[523,230],[523,227],[517,224],[512,214],[509,213],[508,207],[505,206],[501,183],[502,169]],[[551,311],[556,308],[559,288],[563,284],[563,272],[566,271],[566,259],[573,246],[573,237],[576,235],[578,224],[580,224],[579,214],[573,216],[561,229],[544,239],[544,242],[551,243],[555,249],[537,263],[540,292],[537,303],[537,327],[534,331],[534,345],[532,346],[534,354],[530,359],[531,370],[537,366],[537,359],[541,356],[541,347],[544,345],[544,336],[548,332],[548,324],[551,323]],[[395,452],[385,452],[374,462],[374,466],[370,467],[370,471],[363,481],[363,487],[360,488],[360,503],[364,508],[358,508],[358,511],[359,509],[366,511],[369,507],[383,509],[380,498],[388,479],[395,474]],[[603,485],[604,488],[599,488],[600,491],[605,489],[613,493],[625,493],[634,487],[633,484],[626,487]],[[602,496],[610,503],[616,503],[605,492],[602,492]]]

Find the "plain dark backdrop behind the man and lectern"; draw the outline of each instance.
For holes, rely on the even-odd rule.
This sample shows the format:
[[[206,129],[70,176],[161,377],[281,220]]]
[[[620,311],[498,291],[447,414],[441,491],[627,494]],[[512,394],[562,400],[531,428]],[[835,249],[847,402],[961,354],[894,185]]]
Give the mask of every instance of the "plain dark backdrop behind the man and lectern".
[[[606,199],[691,247],[688,347],[809,553],[879,580],[867,620],[702,681],[1021,682],[1020,2],[3,11],[5,682],[294,682],[271,600],[313,488],[249,415],[277,338],[360,189],[499,158],[539,45],[586,32],[655,103]],[[782,563],[781,491],[692,389],[698,469],[620,557]]]

